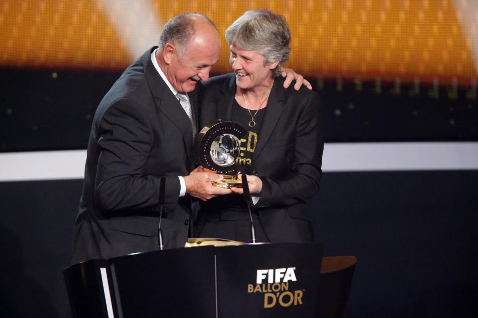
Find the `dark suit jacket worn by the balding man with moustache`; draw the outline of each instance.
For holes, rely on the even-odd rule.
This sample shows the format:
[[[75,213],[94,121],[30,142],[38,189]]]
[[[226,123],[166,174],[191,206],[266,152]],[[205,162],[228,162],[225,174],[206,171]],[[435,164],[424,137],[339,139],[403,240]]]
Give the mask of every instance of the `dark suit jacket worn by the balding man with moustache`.
[[[179,198],[177,176],[193,168],[191,122],[154,68],[154,49],[124,71],[96,111],[72,263],[158,249],[161,176],[165,245],[180,247],[187,240],[190,198]],[[198,118],[196,94],[189,95]]]

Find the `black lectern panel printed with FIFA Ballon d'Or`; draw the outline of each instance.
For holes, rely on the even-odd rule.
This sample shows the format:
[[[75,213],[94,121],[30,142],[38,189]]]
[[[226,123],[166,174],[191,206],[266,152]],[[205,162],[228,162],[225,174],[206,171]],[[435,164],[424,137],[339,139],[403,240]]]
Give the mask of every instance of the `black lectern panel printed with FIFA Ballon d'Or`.
[[[323,244],[216,248],[218,317],[315,317]]]

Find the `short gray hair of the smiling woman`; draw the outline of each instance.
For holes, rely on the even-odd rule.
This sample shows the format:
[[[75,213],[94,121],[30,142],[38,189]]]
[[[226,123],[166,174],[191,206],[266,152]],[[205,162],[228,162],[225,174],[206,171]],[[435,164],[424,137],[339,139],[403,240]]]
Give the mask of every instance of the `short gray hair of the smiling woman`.
[[[250,10],[242,14],[226,30],[226,40],[242,50],[253,50],[262,54],[265,64],[279,61],[273,70],[280,76],[282,64],[289,60],[290,30],[280,14],[269,10]]]

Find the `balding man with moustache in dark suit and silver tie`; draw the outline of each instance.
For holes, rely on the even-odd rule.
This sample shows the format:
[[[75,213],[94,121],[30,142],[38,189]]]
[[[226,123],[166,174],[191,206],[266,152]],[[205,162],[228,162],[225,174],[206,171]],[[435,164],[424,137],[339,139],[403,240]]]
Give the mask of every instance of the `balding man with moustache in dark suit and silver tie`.
[[[159,48],[129,66],[101,101],[92,125],[71,263],[158,249],[158,205],[166,247],[184,246],[191,197],[230,190],[222,176],[194,168],[196,83],[219,58],[214,24],[182,14],[163,28]],[[164,186],[161,180],[164,178]]]

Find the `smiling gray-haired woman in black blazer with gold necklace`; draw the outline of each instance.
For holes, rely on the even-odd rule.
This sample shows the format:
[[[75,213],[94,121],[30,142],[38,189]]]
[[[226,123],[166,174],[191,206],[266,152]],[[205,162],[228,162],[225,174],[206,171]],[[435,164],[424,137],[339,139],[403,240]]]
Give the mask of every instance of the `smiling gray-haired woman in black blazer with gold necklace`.
[[[227,30],[234,73],[204,83],[201,127],[216,119],[238,122],[247,135],[236,160],[247,174],[258,241],[311,241],[305,200],[319,190],[324,135],[320,100],[306,87],[283,88],[289,59],[284,17],[267,10],[240,16]],[[250,241],[250,218],[235,194],[201,203],[196,237]]]

